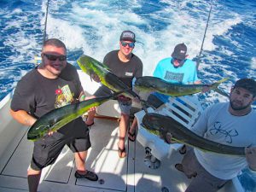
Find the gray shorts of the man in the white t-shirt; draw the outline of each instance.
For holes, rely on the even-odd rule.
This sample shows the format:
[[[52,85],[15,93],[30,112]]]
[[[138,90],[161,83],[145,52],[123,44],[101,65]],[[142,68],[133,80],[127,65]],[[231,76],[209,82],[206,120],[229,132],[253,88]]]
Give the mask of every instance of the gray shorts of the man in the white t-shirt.
[[[182,165],[185,175],[197,174],[185,192],[216,192],[228,182],[228,180],[214,177],[207,172],[196,159],[193,148],[189,148],[184,155]]]

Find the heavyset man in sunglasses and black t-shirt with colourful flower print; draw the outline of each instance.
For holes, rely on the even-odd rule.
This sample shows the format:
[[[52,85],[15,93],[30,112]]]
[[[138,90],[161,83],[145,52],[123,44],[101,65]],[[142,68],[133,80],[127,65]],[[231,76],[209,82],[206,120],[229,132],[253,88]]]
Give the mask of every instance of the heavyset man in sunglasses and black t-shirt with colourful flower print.
[[[51,38],[44,42],[42,63],[18,82],[10,113],[21,124],[32,126],[45,113],[83,97],[84,90],[79,74],[75,67],[67,63],[65,44]],[[75,156],[75,177],[84,177],[91,181],[98,179],[96,173],[85,168],[90,136],[83,119],[78,118],[58,131],[49,131],[48,135],[34,142],[32,160],[27,170],[30,192],[37,191],[42,169],[55,162],[66,144]]]

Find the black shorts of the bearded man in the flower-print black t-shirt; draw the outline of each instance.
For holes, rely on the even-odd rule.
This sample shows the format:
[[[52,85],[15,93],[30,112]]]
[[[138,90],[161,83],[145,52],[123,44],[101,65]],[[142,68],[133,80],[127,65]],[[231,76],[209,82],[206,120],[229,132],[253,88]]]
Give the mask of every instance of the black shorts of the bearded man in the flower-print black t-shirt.
[[[84,129],[82,137],[65,137],[60,132],[54,132],[52,136],[46,136],[34,143],[31,168],[42,170],[55,162],[62,148],[67,146],[74,152],[87,151],[90,148],[89,130]]]

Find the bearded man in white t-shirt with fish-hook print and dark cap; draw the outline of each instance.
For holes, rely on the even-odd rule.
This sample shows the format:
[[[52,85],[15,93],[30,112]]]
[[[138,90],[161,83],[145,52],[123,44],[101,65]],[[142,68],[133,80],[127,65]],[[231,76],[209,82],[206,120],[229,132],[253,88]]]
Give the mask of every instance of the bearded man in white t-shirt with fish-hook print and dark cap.
[[[256,174],[256,111],[251,107],[255,100],[256,82],[240,79],[230,91],[230,102],[214,104],[201,114],[192,131],[217,143],[244,147],[245,156],[191,148],[175,165],[187,177],[195,177],[185,192],[217,191],[246,166]]]

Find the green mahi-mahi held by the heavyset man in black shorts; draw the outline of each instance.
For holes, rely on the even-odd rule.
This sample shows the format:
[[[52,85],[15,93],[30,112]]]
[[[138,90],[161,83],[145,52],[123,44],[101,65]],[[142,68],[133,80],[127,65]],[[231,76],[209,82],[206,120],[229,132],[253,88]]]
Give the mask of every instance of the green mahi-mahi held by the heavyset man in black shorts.
[[[45,113],[32,125],[27,132],[27,139],[36,141],[39,138],[44,137],[49,131],[57,131],[73,119],[79,118],[90,108],[100,106],[103,102],[107,102],[109,99],[118,96],[120,93],[122,93],[122,91],[109,96],[96,97],[83,102],[68,104],[61,108],[55,108],[48,113]]]

